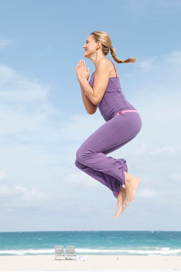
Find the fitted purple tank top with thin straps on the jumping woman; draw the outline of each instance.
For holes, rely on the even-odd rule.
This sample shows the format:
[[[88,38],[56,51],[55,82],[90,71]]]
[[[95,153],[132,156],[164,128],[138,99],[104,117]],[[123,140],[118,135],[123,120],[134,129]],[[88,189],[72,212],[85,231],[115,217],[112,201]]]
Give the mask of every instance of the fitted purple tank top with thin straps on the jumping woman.
[[[108,58],[109,60],[109,58]],[[112,62],[112,60],[110,60]],[[114,63],[112,62],[114,65]],[[115,68],[115,65],[114,65]],[[94,83],[94,75],[96,70],[93,73],[92,78],[89,81],[89,84],[93,88]],[[116,72],[116,68],[115,68]],[[104,120],[107,122],[112,119],[116,113],[122,110],[136,110],[125,98],[123,95],[120,80],[116,76],[114,78],[109,78],[109,82],[104,93],[104,96],[100,103],[97,104],[101,115],[103,116]]]

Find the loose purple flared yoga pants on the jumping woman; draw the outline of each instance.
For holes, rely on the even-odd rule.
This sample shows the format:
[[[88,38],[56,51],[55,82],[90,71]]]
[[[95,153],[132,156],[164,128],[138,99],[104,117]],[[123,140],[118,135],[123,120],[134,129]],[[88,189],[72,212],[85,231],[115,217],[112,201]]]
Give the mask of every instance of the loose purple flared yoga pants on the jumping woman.
[[[128,172],[128,166],[125,159],[114,159],[106,155],[134,139],[141,126],[141,117],[137,112],[114,116],[80,146],[76,152],[75,165],[107,186],[118,198],[120,186],[125,184],[123,171]]]

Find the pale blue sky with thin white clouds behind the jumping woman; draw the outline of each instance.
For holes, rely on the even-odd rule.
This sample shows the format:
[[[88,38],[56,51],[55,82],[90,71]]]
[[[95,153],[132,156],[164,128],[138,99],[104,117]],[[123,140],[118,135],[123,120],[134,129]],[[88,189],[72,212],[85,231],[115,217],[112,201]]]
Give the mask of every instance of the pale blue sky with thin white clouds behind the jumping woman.
[[[0,0],[0,231],[180,231],[181,2]],[[75,166],[76,151],[105,123],[88,115],[75,66],[93,31],[107,32],[125,98],[142,128],[109,154],[139,177],[117,199]],[[90,80],[90,78],[89,78]]]

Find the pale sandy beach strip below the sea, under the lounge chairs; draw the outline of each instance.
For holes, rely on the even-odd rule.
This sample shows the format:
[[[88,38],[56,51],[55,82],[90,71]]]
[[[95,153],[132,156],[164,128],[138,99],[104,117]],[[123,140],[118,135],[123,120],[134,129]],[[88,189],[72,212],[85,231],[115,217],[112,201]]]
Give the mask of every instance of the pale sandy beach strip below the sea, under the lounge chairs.
[[[84,256],[87,260],[55,260],[55,255],[0,256],[0,271],[85,269],[181,270],[181,256],[77,256]]]

